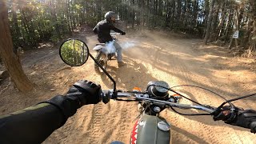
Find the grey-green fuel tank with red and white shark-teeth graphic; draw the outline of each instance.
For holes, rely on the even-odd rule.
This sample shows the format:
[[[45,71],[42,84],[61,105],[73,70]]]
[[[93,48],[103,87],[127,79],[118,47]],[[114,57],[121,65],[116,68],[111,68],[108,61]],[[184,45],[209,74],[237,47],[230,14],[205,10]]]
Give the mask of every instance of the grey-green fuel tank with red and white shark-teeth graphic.
[[[144,114],[134,125],[131,144],[169,144],[170,124],[164,118]]]

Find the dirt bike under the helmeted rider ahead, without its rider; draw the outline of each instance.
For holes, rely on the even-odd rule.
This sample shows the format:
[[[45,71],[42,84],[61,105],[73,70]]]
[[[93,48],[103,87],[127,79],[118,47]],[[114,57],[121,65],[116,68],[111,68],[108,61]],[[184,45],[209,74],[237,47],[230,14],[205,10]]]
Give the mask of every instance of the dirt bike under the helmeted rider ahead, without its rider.
[[[110,33],[114,41],[118,41],[117,35],[120,33]],[[114,60],[114,57],[117,57],[116,50],[114,48],[114,42],[109,43],[97,43],[93,50],[97,51],[96,60],[102,67],[106,70],[107,62]],[[102,74],[102,69],[98,66],[97,63],[94,63],[94,70],[98,74]]]

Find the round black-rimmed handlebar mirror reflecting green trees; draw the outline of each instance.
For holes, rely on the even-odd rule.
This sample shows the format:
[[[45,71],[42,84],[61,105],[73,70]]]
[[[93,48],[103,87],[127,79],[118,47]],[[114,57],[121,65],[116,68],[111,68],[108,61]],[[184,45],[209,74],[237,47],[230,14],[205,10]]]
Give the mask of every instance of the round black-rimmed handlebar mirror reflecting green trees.
[[[89,49],[85,42],[68,39],[59,49],[62,61],[70,66],[82,66],[89,57]]]

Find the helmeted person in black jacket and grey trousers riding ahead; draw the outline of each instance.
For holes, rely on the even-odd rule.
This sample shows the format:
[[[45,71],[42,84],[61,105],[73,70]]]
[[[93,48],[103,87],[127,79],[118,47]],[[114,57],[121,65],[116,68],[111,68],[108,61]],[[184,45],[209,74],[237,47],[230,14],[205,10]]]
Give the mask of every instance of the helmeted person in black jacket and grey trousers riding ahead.
[[[94,27],[94,34],[98,34],[98,42],[106,43],[113,41],[113,38],[110,35],[110,30],[114,30],[122,35],[126,33],[118,28],[114,27],[113,23],[118,19],[118,15],[113,11],[109,11],[105,14],[105,20],[98,22],[98,24]],[[118,66],[123,66],[122,62],[122,47],[118,44],[118,42],[114,41],[114,47],[118,53]]]

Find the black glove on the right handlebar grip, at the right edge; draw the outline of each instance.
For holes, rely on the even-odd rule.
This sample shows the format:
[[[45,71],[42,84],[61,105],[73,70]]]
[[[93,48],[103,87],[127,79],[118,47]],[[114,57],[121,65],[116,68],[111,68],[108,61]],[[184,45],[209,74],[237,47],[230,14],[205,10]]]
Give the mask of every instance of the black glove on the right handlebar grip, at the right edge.
[[[237,107],[234,113],[230,113],[230,106],[224,106],[221,113],[214,115],[214,120],[223,120],[225,123],[249,128],[250,132],[256,133],[256,111],[255,110],[242,110]]]

